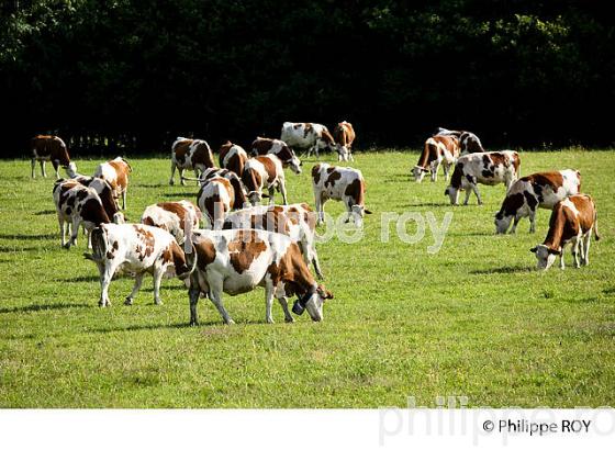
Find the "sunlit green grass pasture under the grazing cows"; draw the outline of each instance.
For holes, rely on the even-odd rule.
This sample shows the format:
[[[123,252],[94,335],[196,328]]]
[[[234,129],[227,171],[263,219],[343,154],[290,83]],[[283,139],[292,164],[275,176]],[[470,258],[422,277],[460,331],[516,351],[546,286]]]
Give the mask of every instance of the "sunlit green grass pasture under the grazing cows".
[[[328,157],[333,160],[333,157]],[[326,158],[325,158],[326,159]],[[152,278],[134,306],[131,279],[111,284],[101,310],[98,271],[77,248],[59,247],[49,178],[30,179],[26,160],[0,161],[0,407],[379,407],[435,406],[463,395],[469,406],[573,407],[615,404],[615,151],[522,153],[522,173],[577,168],[597,204],[602,240],[591,265],[534,270],[529,248],[543,241],[524,220],[516,236],[495,236],[504,187],[480,187],[485,204],[452,207],[437,183],[416,184],[417,153],[356,156],[367,180],[365,237],[318,247],[335,299],[323,323],[308,314],[267,325],[262,290],[225,304],[224,326],[211,302],[201,326],[188,327],[186,289]],[[77,160],[91,173],[98,160]],[[127,217],[164,200],[193,200],[197,188],[168,185],[166,157],[132,158]],[[313,205],[310,169],[287,172],[291,202]],[[329,202],[326,211],[339,213]],[[454,212],[438,254],[431,234],[415,245],[392,233],[380,241],[380,214]],[[407,232],[415,226],[409,224]]]

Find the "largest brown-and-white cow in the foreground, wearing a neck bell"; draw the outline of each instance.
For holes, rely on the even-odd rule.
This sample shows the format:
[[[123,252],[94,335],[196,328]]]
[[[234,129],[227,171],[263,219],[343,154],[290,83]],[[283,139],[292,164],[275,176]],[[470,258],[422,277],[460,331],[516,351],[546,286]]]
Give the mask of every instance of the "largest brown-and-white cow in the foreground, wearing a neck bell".
[[[260,229],[198,230],[192,234],[197,269],[190,277],[190,325],[198,325],[197,303],[208,294],[225,324],[233,319],[224,308],[222,293],[230,295],[265,288],[266,315],[273,323],[271,305],[278,299],[286,322],[294,322],[287,299],[297,295],[292,311],[304,310],[313,320],[323,319],[323,303],[333,294],[314,280],[299,246],[288,236]],[[187,259],[194,259],[187,255]]]

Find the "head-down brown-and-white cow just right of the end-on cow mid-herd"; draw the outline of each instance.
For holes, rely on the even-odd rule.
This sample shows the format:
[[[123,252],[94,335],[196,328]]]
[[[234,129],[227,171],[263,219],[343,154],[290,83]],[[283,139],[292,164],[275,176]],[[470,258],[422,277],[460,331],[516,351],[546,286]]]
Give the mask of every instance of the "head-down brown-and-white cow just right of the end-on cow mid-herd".
[[[256,206],[262,201],[262,189],[269,191],[269,204],[273,204],[276,190],[282,194],[282,202],[288,204],[284,170],[276,155],[262,155],[248,159],[242,181],[246,187],[249,202]]]

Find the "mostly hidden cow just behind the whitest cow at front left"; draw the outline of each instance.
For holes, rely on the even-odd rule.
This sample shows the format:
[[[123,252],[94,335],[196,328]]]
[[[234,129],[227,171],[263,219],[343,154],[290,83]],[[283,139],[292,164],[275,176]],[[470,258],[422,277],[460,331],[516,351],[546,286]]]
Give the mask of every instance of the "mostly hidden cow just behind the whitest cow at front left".
[[[161,202],[149,205],[141,216],[141,223],[169,232],[179,245],[186,240],[186,221],[192,221],[192,228],[199,227],[201,210],[188,200]]]

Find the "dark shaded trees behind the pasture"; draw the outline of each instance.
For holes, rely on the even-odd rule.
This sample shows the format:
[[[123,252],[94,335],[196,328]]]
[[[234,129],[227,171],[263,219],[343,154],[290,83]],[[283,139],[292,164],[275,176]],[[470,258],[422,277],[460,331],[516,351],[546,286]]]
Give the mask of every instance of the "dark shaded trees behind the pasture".
[[[0,156],[29,155],[36,133],[150,153],[342,120],[360,148],[416,146],[436,126],[488,148],[611,146],[608,3],[5,0]]]

